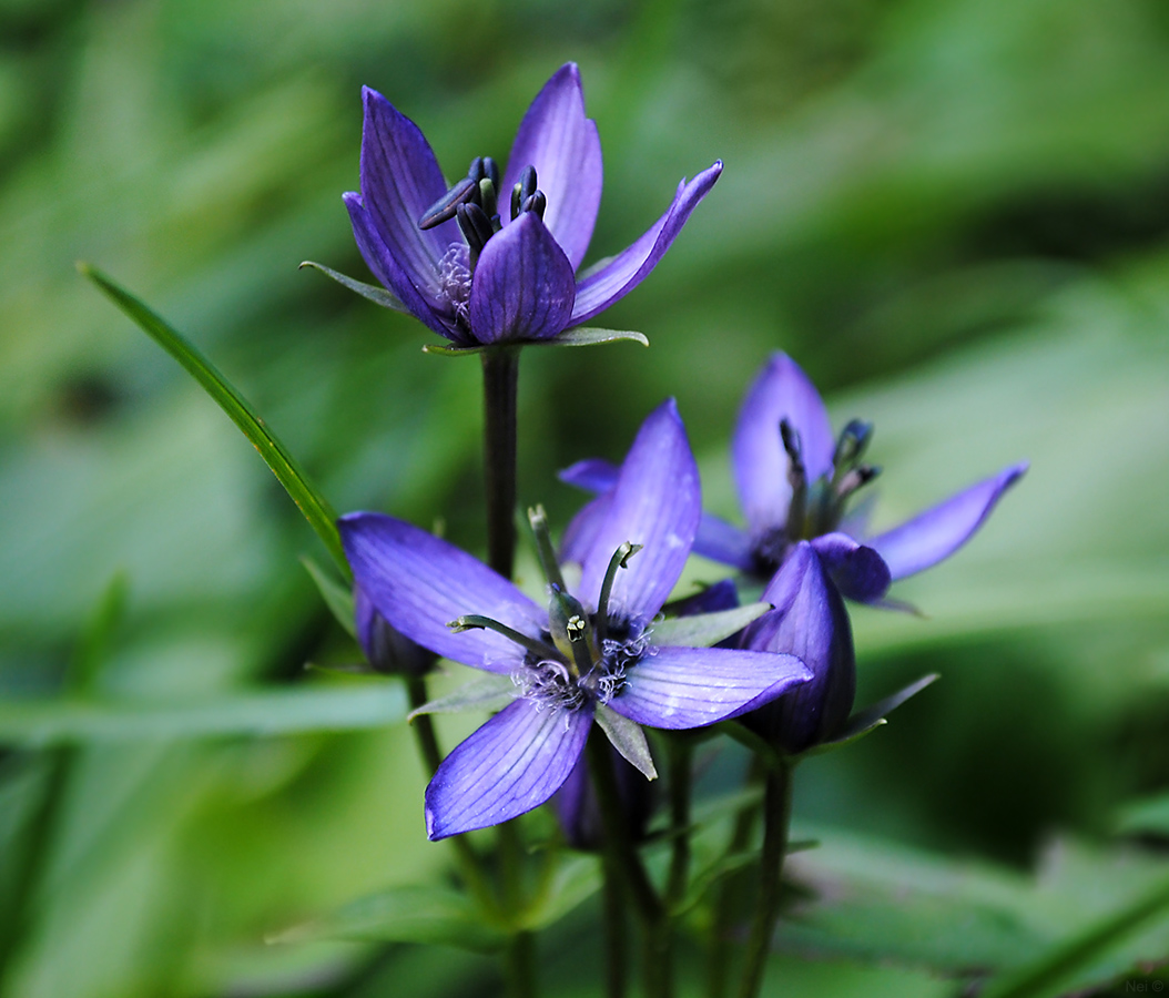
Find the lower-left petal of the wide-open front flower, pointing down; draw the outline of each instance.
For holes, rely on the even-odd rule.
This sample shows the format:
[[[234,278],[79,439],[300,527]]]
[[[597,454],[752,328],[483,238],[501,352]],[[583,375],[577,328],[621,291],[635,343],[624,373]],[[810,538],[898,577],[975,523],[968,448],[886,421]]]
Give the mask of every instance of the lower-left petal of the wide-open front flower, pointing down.
[[[443,839],[538,808],[568,778],[592,726],[592,708],[510,704],[438,767],[427,788],[427,834]]]

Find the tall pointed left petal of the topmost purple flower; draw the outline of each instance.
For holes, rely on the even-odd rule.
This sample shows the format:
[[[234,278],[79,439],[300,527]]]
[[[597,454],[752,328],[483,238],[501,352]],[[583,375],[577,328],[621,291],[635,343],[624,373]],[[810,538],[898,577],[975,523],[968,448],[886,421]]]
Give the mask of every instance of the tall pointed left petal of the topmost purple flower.
[[[361,203],[399,269],[437,305],[444,298],[438,263],[462,236],[454,221],[423,231],[419,219],[447,193],[447,181],[414,122],[376,90],[366,86],[361,97]]]

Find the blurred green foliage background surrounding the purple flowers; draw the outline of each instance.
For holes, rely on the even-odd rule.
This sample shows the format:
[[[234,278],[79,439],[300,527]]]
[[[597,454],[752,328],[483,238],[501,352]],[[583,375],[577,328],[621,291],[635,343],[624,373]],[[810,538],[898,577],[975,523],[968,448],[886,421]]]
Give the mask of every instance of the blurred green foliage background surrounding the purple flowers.
[[[946,973],[1025,962],[1165,875],[1164,4],[2,0],[6,998],[498,992],[454,949],[265,942],[449,855],[404,727],[381,723],[396,687],[304,668],[355,656],[298,562],[325,560],[317,539],[74,263],[186,332],[338,510],[480,549],[478,365],[297,264],[368,279],[340,201],[361,84],[459,175],[506,157],[568,60],[604,147],[589,261],[679,178],[726,169],[603,317],[650,349],[526,352],[523,501],[566,522],[580,497],[554,470],[620,458],[675,395],[708,505],[736,517],[726,441],[780,348],[838,425],[876,422],[877,527],[1032,462],[960,556],[894,590],[926,618],[855,612],[862,701],[942,680],[801,770],[797,833],[822,846],[794,876],[860,901],[781,935],[768,986],[953,994]],[[284,687],[361,730],[269,715],[255,698]],[[953,924],[931,915],[954,896]],[[594,993],[590,912],[541,943],[548,993]],[[1169,954],[1149,928],[1109,972]]]

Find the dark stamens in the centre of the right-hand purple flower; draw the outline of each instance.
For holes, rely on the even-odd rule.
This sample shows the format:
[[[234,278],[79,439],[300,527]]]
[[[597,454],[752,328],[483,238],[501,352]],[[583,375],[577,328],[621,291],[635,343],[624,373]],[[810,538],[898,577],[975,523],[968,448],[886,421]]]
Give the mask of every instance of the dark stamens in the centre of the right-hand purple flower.
[[[839,526],[852,494],[880,474],[879,467],[862,463],[872,435],[872,423],[852,420],[836,442],[831,473],[809,481],[800,431],[787,418],[780,421],[791,501],[783,526],[772,527],[754,540],[752,553],[760,575],[769,576],[780,567],[789,545],[831,533]]]

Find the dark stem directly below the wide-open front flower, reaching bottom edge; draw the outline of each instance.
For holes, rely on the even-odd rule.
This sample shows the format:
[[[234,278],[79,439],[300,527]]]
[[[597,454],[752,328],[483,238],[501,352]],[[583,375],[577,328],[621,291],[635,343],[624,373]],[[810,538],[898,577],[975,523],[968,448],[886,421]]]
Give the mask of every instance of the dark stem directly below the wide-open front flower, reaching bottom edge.
[[[634,910],[642,927],[645,998],[669,998],[673,982],[670,968],[670,920],[665,906],[653,889],[629,834],[609,743],[600,733],[594,732],[586,750],[604,825],[606,876],[620,878],[621,887],[634,902]]]

